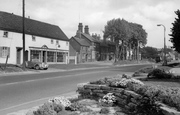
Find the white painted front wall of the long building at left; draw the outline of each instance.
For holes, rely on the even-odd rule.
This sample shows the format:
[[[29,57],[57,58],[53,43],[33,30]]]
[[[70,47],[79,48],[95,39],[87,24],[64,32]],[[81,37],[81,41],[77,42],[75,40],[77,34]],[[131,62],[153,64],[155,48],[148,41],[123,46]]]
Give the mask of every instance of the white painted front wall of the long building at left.
[[[8,32],[8,38],[3,37],[3,30],[0,30],[0,46],[10,47],[10,57],[8,63],[16,64],[17,47],[22,47],[22,34],[15,32]],[[50,49],[66,50],[69,54],[69,42],[59,40],[60,48],[57,48],[56,39],[51,44],[51,38],[36,37],[36,41],[32,41],[32,35],[25,35],[25,50],[30,52],[29,47],[42,47],[46,45]],[[21,63],[23,59],[23,52],[21,50]],[[28,58],[29,59],[29,58]],[[6,58],[0,57],[0,63],[5,63]]]

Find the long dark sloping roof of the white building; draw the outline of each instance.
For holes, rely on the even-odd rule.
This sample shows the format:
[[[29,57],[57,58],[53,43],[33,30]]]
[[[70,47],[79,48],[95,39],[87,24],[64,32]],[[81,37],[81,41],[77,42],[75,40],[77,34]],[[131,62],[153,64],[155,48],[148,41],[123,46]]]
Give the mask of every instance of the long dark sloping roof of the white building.
[[[22,17],[0,11],[0,30],[22,33]],[[68,41],[68,37],[56,25],[25,18],[25,33]]]

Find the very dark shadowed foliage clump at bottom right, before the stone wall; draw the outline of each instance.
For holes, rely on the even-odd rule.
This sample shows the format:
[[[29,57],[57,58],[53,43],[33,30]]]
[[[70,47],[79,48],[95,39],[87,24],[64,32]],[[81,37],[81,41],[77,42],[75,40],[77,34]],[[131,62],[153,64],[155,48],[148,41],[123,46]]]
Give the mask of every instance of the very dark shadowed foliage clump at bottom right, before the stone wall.
[[[138,99],[135,107],[129,109],[133,115],[163,115],[156,98],[145,95]]]

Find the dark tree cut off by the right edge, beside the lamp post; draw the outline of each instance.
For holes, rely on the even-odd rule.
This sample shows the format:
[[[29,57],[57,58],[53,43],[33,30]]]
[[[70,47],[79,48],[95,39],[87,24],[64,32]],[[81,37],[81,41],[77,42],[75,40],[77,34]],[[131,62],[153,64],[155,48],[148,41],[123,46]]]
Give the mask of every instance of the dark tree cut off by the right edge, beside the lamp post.
[[[171,28],[172,34],[170,34],[170,41],[173,44],[173,48],[175,51],[180,53],[180,10],[175,11],[177,18],[175,18],[174,23],[172,23],[173,27]]]

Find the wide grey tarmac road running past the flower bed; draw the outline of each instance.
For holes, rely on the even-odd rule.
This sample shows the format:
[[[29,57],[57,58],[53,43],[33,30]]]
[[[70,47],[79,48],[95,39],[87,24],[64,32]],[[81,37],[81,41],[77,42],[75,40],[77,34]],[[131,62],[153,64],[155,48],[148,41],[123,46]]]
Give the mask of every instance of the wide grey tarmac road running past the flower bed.
[[[0,76],[0,114],[41,99],[76,91],[77,84],[117,74],[132,73],[147,65]]]

